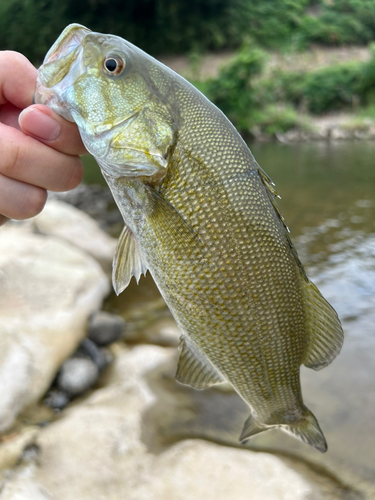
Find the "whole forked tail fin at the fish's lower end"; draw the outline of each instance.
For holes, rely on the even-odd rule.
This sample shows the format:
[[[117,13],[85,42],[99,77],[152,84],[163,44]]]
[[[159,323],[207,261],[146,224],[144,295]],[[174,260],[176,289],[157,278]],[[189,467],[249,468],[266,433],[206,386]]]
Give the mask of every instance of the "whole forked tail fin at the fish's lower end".
[[[306,444],[313,446],[318,451],[324,453],[327,451],[327,443],[324,438],[323,432],[319,427],[318,421],[311,413],[311,411],[303,407],[303,415],[294,423],[283,423],[268,425],[259,422],[253,415],[246,420],[241,436],[240,442],[242,444],[246,443],[248,439],[269,429],[280,428],[283,431],[291,434],[292,436],[300,439]]]

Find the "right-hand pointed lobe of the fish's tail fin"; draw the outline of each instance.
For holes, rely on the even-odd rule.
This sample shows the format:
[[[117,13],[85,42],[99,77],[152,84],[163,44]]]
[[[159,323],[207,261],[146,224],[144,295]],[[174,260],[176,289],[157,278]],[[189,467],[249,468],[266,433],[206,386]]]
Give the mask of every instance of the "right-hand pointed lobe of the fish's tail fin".
[[[304,406],[303,417],[294,424],[282,425],[281,429],[292,434],[306,444],[313,446],[321,453],[327,451],[327,442],[311,411]]]

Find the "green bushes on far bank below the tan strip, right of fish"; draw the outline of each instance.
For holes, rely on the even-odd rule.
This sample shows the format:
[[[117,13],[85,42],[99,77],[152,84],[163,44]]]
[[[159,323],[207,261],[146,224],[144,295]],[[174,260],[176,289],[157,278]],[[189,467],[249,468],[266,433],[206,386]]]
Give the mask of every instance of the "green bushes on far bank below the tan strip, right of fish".
[[[267,135],[291,128],[311,131],[310,115],[375,107],[375,46],[368,62],[351,61],[309,72],[263,73],[267,54],[244,46],[217,78],[199,82],[207,95],[247,134]],[[194,82],[195,84],[197,82]]]

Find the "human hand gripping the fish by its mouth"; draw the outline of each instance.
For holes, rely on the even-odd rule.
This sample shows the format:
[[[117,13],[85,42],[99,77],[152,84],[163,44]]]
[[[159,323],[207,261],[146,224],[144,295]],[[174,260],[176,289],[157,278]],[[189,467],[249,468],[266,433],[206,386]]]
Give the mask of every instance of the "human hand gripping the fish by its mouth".
[[[0,52],[0,226],[37,215],[50,191],[68,191],[86,154],[77,126],[32,105],[37,70],[22,54]]]

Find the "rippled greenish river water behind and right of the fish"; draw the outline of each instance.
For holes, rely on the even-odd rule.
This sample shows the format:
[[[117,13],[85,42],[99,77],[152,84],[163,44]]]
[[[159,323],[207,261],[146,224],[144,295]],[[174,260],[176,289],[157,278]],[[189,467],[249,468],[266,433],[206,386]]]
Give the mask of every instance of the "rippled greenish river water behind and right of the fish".
[[[301,369],[304,400],[328,452],[279,431],[249,445],[299,456],[375,491],[375,143],[257,143],[251,150],[275,182],[301,261],[337,310],[346,338],[332,365]],[[156,295],[149,279],[112,306],[126,309]]]

